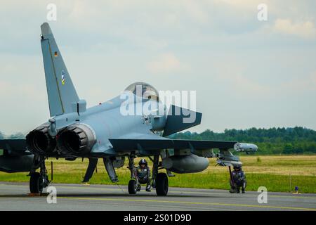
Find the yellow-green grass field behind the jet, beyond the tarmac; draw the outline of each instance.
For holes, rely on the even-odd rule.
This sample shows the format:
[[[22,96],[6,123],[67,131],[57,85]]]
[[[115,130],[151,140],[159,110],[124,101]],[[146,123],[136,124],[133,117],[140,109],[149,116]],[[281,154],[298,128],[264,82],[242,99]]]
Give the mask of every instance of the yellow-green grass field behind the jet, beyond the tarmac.
[[[294,191],[298,186],[301,193],[316,193],[316,155],[277,155],[277,156],[241,156],[248,186],[246,190],[257,191],[259,186],[265,186],[268,191]],[[54,163],[55,183],[80,183],[88,160],[47,160],[48,173],[50,161]],[[89,184],[112,184],[99,160],[98,173],[93,174]],[[126,160],[127,161],[127,160]],[[136,160],[136,162],[138,162]],[[127,162],[126,162],[127,163]],[[126,164],[127,165],[127,164]],[[169,185],[187,188],[228,189],[228,167],[215,167],[216,160],[210,160],[210,166],[204,172],[197,174],[176,174],[169,178]],[[129,170],[124,166],[117,169],[119,185],[129,181]],[[29,181],[27,173],[6,174],[0,172],[0,181]]]

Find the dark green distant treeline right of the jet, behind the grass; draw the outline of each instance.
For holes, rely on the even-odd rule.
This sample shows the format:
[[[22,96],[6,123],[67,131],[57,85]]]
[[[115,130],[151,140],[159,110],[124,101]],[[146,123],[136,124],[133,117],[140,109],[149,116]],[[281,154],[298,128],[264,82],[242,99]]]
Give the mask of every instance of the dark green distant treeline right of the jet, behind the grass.
[[[186,131],[173,134],[172,139],[195,139],[213,141],[238,141],[256,143],[258,154],[315,154],[316,131],[303,127],[270,129],[225,129],[215,133],[207,129],[202,133]]]

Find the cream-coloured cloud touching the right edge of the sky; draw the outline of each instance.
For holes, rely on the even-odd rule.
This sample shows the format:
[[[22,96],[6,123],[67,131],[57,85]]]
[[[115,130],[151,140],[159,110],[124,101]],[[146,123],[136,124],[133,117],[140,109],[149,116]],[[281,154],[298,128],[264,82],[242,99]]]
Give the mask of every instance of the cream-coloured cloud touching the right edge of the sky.
[[[315,25],[310,20],[294,23],[289,19],[277,19],[273,29],[279,33],[292,34],[305,39],[316,37]]]

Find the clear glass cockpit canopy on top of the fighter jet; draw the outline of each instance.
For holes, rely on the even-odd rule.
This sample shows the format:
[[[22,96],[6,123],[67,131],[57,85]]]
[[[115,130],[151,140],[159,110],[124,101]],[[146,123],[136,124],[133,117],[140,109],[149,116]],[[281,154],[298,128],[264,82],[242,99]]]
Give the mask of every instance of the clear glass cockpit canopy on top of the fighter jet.
[[[131,91],[136,96],[140,96],[145,99],[159,100],[158,91],[153,86],[145,82],[133,83],[126,87],[125,91]]]

